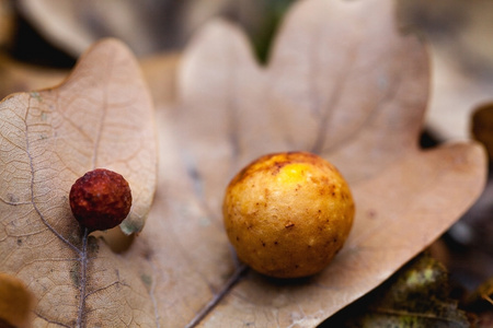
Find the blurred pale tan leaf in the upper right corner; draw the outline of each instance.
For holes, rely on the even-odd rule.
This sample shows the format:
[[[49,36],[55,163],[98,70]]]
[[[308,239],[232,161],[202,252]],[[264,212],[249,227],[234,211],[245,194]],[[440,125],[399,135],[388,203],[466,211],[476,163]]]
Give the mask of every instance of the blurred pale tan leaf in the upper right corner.
[[[493,2],[398,0],[401,21],[426,35],[433,83],[426,126],[439,140],[470,137],[470,116],[492,101]]]

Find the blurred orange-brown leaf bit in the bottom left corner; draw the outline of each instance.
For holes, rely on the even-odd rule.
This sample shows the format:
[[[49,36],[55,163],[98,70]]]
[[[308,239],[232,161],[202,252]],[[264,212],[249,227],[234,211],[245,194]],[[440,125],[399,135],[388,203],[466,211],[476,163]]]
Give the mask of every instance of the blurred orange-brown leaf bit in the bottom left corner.
[[[34,297],[24,283],[0,272],[0,327],[30,327],[33,305]]]

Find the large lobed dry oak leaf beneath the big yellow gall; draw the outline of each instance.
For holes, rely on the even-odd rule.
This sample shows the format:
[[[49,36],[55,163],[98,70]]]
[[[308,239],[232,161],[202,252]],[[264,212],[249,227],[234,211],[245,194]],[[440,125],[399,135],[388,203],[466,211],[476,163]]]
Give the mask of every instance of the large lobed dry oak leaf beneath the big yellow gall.
[[[392,4],[300,1],[265,68],[222,21],[191,43],[179,105],[157,112],[160,184],[141,235],[165,249],[150,258],[161,273],[156,304],[169,326],[196,314],[192,326],[211,308],[199,325],[313,327],[380,284],[479,196],[486,172],[480,145],[417,145],[428,56],[397,27]],[[256,156],[290,150],[324,156],[348,179],[357,212],[349,239],[309,279],[249,271],[230,285],[242,266],[222,227],[226,185]]]

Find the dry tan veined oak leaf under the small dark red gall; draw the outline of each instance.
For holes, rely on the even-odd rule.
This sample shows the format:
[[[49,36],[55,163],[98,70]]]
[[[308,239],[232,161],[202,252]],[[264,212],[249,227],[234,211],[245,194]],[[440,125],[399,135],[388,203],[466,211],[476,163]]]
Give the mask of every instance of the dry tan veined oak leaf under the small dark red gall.
[[[34,327],[156,323],[139,271],[151,267],[129,266],[83,235],[68,203],[78,177],[106,167],[133,191],[122,230],[142,229],[157,184],[153,116],[136,59],[113,39],[91,48],[60,85],[0,103],[0,271],[33,292]]]

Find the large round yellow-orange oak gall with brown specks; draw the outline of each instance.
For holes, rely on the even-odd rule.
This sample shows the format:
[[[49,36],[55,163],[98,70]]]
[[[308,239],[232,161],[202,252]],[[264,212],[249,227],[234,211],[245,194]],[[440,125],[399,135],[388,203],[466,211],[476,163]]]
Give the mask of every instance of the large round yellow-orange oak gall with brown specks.
[[[325,268],[355,213],[349,186],[328,161],[307,152],[268,154],[230,181],[225,227],[241,261],[276,278]]]

